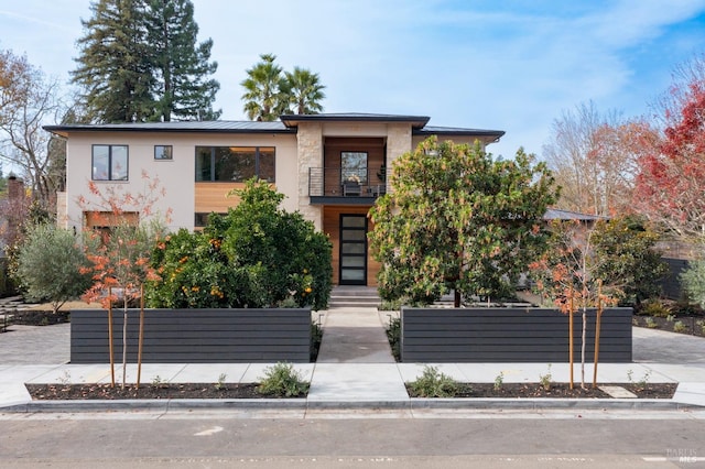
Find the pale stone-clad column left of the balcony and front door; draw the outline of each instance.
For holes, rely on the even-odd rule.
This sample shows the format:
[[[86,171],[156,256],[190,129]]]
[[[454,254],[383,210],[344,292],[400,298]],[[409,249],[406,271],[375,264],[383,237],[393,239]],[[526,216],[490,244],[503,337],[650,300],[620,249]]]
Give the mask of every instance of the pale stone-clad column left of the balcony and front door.
[[[301,122],[296,133],[299,159],[299,211],[313,221],[316,230],[323,229],[321,207],[311,205],[308,197],[308,170],[323,166],[323,127],[321,122]]]

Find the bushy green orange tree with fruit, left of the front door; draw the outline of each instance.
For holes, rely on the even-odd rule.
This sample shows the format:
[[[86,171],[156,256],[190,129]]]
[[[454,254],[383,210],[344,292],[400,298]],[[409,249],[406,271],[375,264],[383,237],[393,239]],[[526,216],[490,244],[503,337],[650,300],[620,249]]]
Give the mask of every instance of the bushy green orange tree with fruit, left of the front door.
[[[162,240],[152,257],[162,282],[147,291],[151,307],[323,309],[332,288],[332,247],[299,212],[279,208],[283,195],[251,179],[237,207],[212,214],[202,232]]]

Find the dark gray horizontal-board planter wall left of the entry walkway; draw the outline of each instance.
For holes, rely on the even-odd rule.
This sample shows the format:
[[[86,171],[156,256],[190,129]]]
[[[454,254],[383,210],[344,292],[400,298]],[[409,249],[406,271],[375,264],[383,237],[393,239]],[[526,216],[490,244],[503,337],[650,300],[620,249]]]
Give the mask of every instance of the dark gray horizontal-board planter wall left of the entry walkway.
[[[128,312],[128,361],[135,362],[140,312]],[[122,310],[113,309],[115,360],[122,361]],[[108,312],[70,313],[70,362],[108,363]],[[145,309],[143,363],[308,362],[311,310]]]

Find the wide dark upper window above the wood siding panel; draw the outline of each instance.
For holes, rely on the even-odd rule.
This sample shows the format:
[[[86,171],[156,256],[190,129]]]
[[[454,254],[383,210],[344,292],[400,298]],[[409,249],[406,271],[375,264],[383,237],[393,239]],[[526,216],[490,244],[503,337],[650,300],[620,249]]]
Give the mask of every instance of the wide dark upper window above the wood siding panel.
[[[273,146],[196,146],[196,181],[274,182]]]

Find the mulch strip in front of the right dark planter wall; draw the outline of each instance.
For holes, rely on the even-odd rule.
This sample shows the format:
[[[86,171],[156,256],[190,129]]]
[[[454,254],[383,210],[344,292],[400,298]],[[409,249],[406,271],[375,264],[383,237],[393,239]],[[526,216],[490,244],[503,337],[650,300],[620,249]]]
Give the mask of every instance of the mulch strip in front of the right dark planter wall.
[[[638,399],[672,399],[677,388],[677,383],[649,383],[641,388],[633,383],[605,384],[617,385],[637,394]],[[409,395],[412,391],[406,386]],[[555,383],[550,390],[545,390],[539,383],[503,383],[501,388],[495,389],[495,383],[463,383],[455,397],[570,397],[570,399],[611,399],[611,396],[599,389],[593,389],[592,383],[586,383],[586,389],[582,389],[579,383],[574,383],[573,389],[567,383]]]

